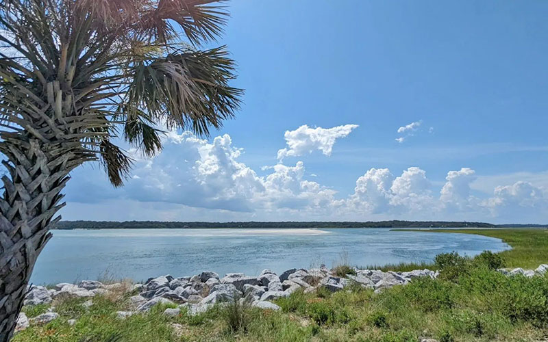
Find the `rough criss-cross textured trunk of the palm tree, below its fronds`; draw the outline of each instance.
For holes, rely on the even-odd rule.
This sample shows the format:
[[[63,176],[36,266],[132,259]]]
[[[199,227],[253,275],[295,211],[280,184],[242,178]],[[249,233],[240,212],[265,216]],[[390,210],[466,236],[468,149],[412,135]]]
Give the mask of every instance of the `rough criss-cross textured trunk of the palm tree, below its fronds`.
[[[9,133],[7,134],[9,135]],[[12,337],[38,254],[60,220],[60,194],[69,172],[82,163],[79,142],[43,142],[19,135],[0,142],[8,174],[0,196],[0,342]]]

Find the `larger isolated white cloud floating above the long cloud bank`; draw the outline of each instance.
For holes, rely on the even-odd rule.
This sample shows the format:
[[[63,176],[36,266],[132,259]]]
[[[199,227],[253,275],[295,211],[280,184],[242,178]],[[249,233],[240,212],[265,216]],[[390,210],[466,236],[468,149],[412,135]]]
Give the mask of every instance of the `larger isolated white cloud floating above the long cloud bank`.
[[[284,137],[288,147],[278,150],[277,157],[279,160],[284,159],[284,157],[299,157],[312,153],[314,150],[321,150],[321,153],[329,156],[336,140],[346,137],[357,127],[357,124],[344,124],[324,129],[322,127],[311,128],[303,124],[295,131],[286,131]]]

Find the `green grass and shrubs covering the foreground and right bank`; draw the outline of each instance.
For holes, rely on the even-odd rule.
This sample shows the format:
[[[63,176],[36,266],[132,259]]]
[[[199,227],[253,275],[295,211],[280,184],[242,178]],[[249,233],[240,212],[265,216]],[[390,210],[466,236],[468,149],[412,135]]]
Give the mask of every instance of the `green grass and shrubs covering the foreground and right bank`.
[[[60,319],[27,328],[13,342],[545,340],[548,274],[509,277],[493,268],[500,262],[499,255],[510,267],[547,263],[547,232],[465,233],[469,232],[499,237],[513,249],[475,259],[441,254],[436,257],[439,278],[418,278],[381,293],[360,286],[336,293],[296,291],[275,301],[280,311],[233,303],[194,317],[185,310],[177,317],[167,317],[162,315],[167,306],[156,306],[147,314],[116,319],[116,311],[127,311],[132,293],[93,298],[88,309],[80,305],[85,300],[55,300],[52,305]],[[414,265],[426,266],[434,268]],[[23,308],[29,315],[46,309]],[[77,319],[75,326],[69,326],[68,319]]]

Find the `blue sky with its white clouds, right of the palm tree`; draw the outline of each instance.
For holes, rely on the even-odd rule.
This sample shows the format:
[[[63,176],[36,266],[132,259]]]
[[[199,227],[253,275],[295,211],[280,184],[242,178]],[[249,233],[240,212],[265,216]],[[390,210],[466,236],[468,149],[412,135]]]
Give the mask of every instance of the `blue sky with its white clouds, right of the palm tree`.
[[[236,119],[76,170],[65,220],[548,222],[548,2],[228,6]]]

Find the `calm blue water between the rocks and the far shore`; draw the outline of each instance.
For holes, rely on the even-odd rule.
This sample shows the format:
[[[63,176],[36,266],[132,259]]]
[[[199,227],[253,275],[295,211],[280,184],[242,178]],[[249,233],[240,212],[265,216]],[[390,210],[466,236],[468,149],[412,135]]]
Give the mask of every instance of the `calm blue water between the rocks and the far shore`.
[[[351,265],[432,261],[440,252],[475,255],[505,250],[499,239],[479,235],[398,232],[387,228],[337,229],[105,229],[53,231],[38,258],[32,282],[116,278],[145,280],[212,270],[259,274],[341,258]]]

